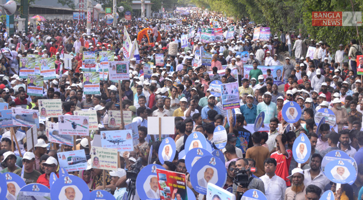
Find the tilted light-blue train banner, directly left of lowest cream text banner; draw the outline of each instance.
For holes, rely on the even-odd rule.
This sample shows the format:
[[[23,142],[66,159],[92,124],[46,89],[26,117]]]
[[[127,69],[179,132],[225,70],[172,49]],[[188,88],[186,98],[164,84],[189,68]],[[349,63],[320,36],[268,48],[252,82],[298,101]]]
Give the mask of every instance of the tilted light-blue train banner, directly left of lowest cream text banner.
[[[87,168],[85,149],[58,152],[59,166],[69,171],[81,171]]]

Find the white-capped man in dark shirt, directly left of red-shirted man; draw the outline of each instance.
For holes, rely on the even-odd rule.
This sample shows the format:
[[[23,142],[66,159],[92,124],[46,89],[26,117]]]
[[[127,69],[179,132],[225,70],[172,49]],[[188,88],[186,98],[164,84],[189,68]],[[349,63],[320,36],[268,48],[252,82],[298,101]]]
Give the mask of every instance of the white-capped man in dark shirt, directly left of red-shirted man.
[[[41,172],[34,169],[35,154],[33,152],[27,151],[23,155],[23,166],[24,166],[24,181],[26,184],[36,183],[39,176],[42,175]],[[14,173],[19,176],[22,175],[22,168],[14,171]]]

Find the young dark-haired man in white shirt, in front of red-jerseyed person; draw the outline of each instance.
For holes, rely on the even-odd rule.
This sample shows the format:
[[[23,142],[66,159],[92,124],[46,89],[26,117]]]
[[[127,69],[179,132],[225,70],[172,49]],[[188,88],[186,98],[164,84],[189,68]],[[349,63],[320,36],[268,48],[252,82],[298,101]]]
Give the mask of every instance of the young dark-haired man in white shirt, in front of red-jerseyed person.
[[[269,157],[265,160],[264,165],[266,174],[261,176],[260,179],[263,181],[267,199],[283,200],[286,190],[286,181],[275,174],[277,165],[276,159]]]

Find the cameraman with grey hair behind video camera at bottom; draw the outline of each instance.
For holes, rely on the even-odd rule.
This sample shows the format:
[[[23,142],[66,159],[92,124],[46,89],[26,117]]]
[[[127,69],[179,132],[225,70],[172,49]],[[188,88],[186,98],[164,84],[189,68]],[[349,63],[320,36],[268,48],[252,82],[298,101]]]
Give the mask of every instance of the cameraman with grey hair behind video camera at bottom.
[[[265,187],[263,184],[263,181],[259,178],[252,177],[252,172],[249,170],[248,160],[246,158],[239,158],[236,161],[236,170],[235,171],[235,177],[238,176],[239,173],[242,172],[242,170],[245,171],[245,173],[248,175],[248,183],[246,185],[242,185],[240,183],[234,181],[233,183],[233,193],[238,196],[238,193],[244,193],[248,189],[258,189],[262,191],[262,193],[265,193]],[[243,172],[242,172],[243,173]]]

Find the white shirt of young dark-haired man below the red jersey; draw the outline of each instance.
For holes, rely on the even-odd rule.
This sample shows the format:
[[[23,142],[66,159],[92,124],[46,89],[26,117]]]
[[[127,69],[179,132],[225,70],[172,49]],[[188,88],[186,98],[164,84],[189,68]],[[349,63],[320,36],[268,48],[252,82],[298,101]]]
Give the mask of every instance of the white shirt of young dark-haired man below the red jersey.
[[[276,174],[272,178],[268,175],[260,177],[265,186],[265,195],[269,200],[283,200],[286,190],[286,182]]]

